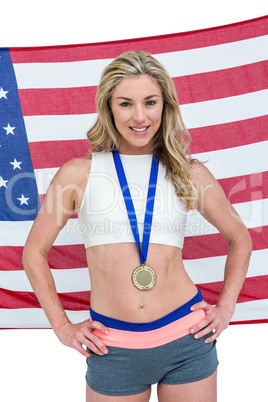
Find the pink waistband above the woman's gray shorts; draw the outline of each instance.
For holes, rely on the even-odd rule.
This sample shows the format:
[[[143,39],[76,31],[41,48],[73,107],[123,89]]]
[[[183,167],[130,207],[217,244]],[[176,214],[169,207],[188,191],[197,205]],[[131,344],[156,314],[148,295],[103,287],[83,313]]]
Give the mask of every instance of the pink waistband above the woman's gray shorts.
[[[196,310],[164,327],[146,332],[132,332],[108,328],[108,335],[105,335],[97,329],[94,329],[93,333],[100,338],[106,346],[128,349],[154,348],[190,334],[190,329],[195,324],[202,321],[205,315],[204,310]]]

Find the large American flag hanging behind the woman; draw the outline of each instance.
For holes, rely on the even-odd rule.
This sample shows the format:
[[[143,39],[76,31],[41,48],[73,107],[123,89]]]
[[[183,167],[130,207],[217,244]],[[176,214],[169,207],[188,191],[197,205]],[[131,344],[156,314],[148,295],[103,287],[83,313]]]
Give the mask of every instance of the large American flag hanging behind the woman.
[[[0,327],[50,327],[23,270],[27,235],[59,167],[88,154],[103,68],[127,50],[153,54],[174,80],[191,153],[207,161],[253,240],[232,323],[268,322],[268,17],[200,31],[40,48],[0,49]],[[215,304],[226,241],[189,213],[185,267]],[[73,322],[88,318],[90,279],[77,216],[49,253]]]

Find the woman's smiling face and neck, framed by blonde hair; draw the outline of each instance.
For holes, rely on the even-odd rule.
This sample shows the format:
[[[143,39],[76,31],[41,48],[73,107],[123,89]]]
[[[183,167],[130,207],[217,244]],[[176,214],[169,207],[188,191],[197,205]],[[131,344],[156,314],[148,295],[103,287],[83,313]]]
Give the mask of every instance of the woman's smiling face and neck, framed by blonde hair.
[[[163,104],[162,91],[149,75],[123,78],[119,82],[110,106],[120,134],[120,153],[153,152],[153,138],[161,124]]]

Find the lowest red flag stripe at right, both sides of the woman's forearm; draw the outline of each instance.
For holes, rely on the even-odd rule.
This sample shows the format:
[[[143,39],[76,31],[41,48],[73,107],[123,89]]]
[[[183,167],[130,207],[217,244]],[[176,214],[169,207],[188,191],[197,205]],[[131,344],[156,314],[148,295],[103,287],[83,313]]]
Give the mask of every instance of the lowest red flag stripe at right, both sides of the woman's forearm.
[[[216,304],[223,282],[202,283],[196,285],[204,300],[209,304]],[[238,296],[237,303],[268,299],[268,275],[246,278]]]

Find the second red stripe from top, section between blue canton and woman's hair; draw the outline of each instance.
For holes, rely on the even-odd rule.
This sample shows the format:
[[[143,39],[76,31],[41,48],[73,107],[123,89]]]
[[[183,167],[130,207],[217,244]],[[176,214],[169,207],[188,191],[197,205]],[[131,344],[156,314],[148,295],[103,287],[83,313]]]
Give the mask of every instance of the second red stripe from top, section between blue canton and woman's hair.
[[[20,89],[24,116],[96,113],[97,87]]]

